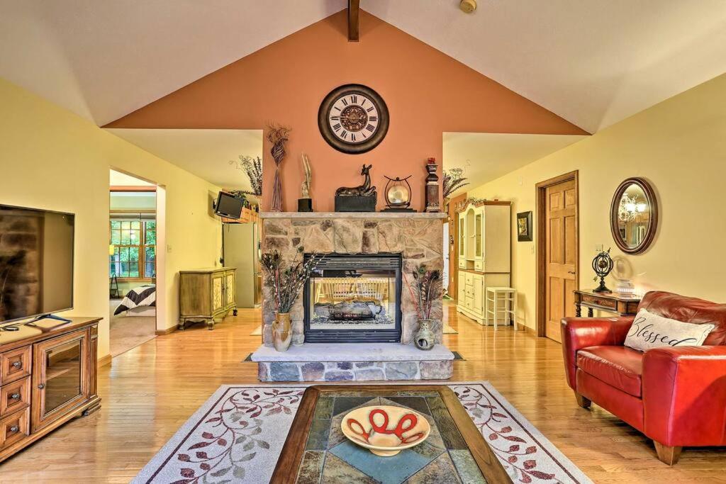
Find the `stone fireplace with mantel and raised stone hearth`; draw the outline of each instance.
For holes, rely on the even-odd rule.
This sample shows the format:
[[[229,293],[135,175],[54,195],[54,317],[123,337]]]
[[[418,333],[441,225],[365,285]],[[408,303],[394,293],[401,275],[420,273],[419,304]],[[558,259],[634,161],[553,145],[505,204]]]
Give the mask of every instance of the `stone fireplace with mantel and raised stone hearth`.
[[[412,271],[444,268],[444,213],[261,213],[262,250],[287,261],[325,254],[290,311],[293,345],[272,348],[274,306],[263,287],[262,343],[253,353],[264,381],[449,378],[441,345],[442,301],[433,305],[436,347],[413,345],[418,320]]]

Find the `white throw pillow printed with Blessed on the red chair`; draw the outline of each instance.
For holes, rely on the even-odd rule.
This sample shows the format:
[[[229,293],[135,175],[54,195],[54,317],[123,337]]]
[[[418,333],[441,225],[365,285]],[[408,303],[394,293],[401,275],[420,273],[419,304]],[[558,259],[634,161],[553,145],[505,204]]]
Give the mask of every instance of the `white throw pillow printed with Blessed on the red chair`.
[[[638,311],[625,338],[625,345],[634,350],[650,350],[663,346],[701,346],[714,324],[693,324]]]

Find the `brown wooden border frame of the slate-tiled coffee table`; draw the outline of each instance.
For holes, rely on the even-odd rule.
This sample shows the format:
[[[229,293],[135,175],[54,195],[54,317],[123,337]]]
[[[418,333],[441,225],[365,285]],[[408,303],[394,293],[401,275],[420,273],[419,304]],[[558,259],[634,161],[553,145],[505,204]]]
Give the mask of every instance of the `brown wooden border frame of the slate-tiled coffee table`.
[[[294,483],[305,453],[305,445],[313,422],[318,398],[326,393],[359,391],[367,395],[386,395],[395,391],[428,391],[439,393],[441,401],[451,414],[459,432],[469,446],[469,451],[489,484],[513,481],[507,475],[502,463],[484,440],[479,429],[466,412],[456,394],[444,385],[314,385],[308,387],[298,406],[298,412],[282,446],[280,458],[272,473],[271,484]]]

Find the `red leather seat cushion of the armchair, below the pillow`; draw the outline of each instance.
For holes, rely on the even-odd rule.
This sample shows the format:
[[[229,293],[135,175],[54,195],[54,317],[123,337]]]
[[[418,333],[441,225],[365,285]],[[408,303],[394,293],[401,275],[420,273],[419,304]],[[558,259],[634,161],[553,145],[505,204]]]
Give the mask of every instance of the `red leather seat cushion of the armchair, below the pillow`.
[[[608,385],[640,398],[643,353],[625,346],[590,346],[577,352],[577,367]]]

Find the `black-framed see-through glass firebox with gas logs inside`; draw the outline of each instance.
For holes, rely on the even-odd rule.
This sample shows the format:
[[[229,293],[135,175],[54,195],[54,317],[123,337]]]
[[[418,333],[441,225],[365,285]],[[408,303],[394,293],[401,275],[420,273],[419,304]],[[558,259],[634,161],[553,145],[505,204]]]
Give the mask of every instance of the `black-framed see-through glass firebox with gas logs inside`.
[[[401,255],[325,255],[303,301],[306,343],[399,343]]]

